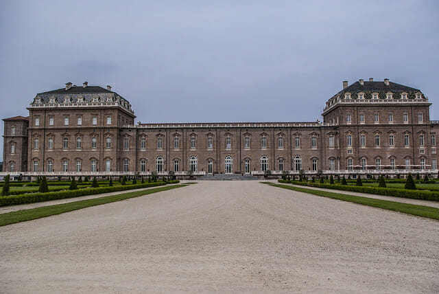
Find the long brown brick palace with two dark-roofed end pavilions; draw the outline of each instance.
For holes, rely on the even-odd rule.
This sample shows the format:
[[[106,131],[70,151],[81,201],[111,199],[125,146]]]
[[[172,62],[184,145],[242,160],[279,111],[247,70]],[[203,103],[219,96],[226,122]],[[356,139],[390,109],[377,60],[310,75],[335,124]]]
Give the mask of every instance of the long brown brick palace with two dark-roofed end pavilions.
[[[418,89],[370,78],[343,82],[323,122],[135,124],[110,86],[69,82],[36,94],[28,117],[3,119],[3,172],[437,173],[430,105]]]

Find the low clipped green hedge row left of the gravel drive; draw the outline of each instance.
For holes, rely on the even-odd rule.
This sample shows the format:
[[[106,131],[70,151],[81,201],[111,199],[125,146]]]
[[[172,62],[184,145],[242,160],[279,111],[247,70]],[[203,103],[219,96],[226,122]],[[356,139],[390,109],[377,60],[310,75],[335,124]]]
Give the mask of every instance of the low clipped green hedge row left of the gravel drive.
[[[102,194],[108,192],[117,192],[124,190],[132,190],[139,188],[156,187],[159,185],[166,185],[169,183],[180,183],[180,181],[168,181],[168,182],[155,182],[155,183],[143,183],[137,185],[117,185],[113,187],[100,187],[80,190],[65,190],[61,192],[48,192],[48,193],[29,193],[21,195],[1,196],[0,206],[16,205],[24,203],[43,202],[56,199],[73,198],[78,196],[87,196],[94,194]]]

